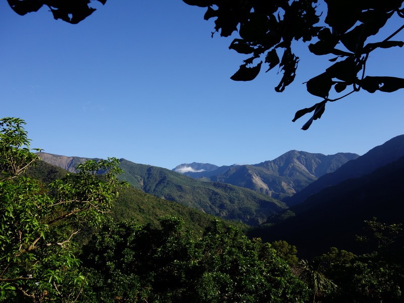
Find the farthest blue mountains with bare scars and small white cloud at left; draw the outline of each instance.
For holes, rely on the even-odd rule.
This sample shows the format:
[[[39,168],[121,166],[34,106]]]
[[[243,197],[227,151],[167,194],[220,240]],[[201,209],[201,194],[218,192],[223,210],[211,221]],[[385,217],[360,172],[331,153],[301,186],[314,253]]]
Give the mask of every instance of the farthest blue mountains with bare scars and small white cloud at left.
[[[246,187],[277,199],[292,196],[319,177],[334,172],[359,155],[312,154],[290,150],[272,161],[254,165],[215,166],[212,164],[181,164],[173,171],[193,178]]]

